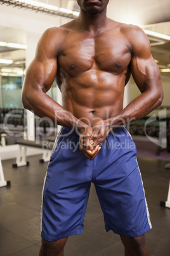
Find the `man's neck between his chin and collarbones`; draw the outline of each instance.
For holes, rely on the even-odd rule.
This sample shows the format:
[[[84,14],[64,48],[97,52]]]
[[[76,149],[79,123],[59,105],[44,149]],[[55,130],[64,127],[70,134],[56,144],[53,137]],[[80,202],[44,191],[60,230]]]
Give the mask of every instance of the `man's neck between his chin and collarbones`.
[[[88,14],[81,9],[80,15],[77,18],[77,24],[81,31],[89,31],[90,34],[95,35],[103,31],[107,24],[106,10],[102,13]]]

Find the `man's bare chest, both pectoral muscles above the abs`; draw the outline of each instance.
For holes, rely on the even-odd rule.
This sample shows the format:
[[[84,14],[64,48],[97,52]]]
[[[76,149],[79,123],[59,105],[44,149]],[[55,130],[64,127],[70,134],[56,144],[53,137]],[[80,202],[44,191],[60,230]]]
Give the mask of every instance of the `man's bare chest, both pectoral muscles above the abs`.
[[[119,74],[128,67],[130,60],[126,39],[109,33],[95,38],[79,33],[70,34],[58,57],[60,67],[70,76],[94,68]]]

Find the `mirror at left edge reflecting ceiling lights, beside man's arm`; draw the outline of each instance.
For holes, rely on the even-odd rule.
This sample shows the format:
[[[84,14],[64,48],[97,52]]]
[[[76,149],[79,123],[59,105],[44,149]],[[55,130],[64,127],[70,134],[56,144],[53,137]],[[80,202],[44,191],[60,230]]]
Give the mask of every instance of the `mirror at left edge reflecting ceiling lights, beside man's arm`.
[[[22,108],[25,48],[24,31],[0,27],[0,108]]]

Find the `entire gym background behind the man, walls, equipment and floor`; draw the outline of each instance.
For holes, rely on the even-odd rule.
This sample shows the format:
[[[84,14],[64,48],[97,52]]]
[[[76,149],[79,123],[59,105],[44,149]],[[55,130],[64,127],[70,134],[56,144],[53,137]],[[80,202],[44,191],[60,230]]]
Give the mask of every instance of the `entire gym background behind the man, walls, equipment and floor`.
[[[42,185],[60,127],[48,118],[36,117],[23,109],[22,84],[42,32],[78,14],[79,7],[72,0],[0,0],[1,256],[36,256],[39,253]],[[150,255],[169,256],[170,1],[110,0],[107,15],[144,29],[160,69],[164,89],[162,105],[126,128],[136,143],[150,211],[152,230],[146,234]],[[124,107],[139,94],[131,78],[124,92]],[[48,95],[62,104],[56,82]],[[112,231],[105,232],[103,213],[93,185],[84,232],[70,237],[65,246],[65,256],[85,255],[124,255],[119,236]]]

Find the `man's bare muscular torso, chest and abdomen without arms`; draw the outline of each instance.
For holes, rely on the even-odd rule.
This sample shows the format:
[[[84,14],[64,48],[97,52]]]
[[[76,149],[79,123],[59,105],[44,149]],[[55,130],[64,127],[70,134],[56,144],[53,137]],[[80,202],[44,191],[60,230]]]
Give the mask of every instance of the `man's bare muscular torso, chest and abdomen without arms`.
[[[67,29],[56,76],[63,107],[88,125],[117,115],[130,62],[128,40],[119,26],[97,36]]]

